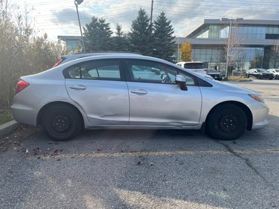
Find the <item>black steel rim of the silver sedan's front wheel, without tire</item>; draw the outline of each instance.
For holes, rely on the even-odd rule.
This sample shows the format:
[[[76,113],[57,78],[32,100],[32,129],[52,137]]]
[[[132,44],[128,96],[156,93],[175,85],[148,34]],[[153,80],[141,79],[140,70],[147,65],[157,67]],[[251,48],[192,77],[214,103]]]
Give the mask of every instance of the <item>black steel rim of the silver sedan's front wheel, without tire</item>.
[[[218,118],[218,130],[233,133],[239,128],[239,118],[234,113],[225,113]]]

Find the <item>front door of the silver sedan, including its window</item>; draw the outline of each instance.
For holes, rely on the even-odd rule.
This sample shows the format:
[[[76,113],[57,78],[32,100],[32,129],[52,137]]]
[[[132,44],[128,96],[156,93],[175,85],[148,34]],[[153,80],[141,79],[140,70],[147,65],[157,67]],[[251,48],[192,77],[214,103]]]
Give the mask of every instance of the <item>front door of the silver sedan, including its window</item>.
[[[202,95],[193,75],[183,75],[188,83],[188,91],[183,91],[175,84],[178,68],[155,61],[127,60],[126,70],[130,125],[198,125]]]

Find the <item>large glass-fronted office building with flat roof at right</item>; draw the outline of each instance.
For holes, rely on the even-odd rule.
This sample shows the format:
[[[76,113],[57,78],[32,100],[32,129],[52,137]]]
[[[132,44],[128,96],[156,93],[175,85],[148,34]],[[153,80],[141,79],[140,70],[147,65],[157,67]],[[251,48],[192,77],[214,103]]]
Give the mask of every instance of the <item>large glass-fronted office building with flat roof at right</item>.
[[[208,68],[225,70],[227,57],[234,70],[279,68],[279,21],[204,20],[186,38],[176,38],[176,59],[183,42],[192,44],[193,60]]]

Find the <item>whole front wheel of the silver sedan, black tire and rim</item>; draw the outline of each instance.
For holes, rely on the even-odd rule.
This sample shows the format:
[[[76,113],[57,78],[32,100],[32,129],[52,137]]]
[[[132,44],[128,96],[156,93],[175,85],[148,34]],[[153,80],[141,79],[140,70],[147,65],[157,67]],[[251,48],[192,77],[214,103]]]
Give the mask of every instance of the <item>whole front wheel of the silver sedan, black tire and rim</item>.
[[[206,129],[215,139],[234,140],[245,132],[247,117],[235,104],[221,104],[213,109],[206,121]]]

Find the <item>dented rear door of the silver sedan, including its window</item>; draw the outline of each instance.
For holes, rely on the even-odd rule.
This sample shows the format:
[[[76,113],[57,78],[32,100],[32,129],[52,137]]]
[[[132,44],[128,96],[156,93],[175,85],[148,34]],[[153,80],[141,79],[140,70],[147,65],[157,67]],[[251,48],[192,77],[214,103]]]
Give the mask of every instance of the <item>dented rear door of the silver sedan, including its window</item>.
[[[71,100],[93,125],[128,125],[128,88],[119,60],[87,61],[63,72]]]

